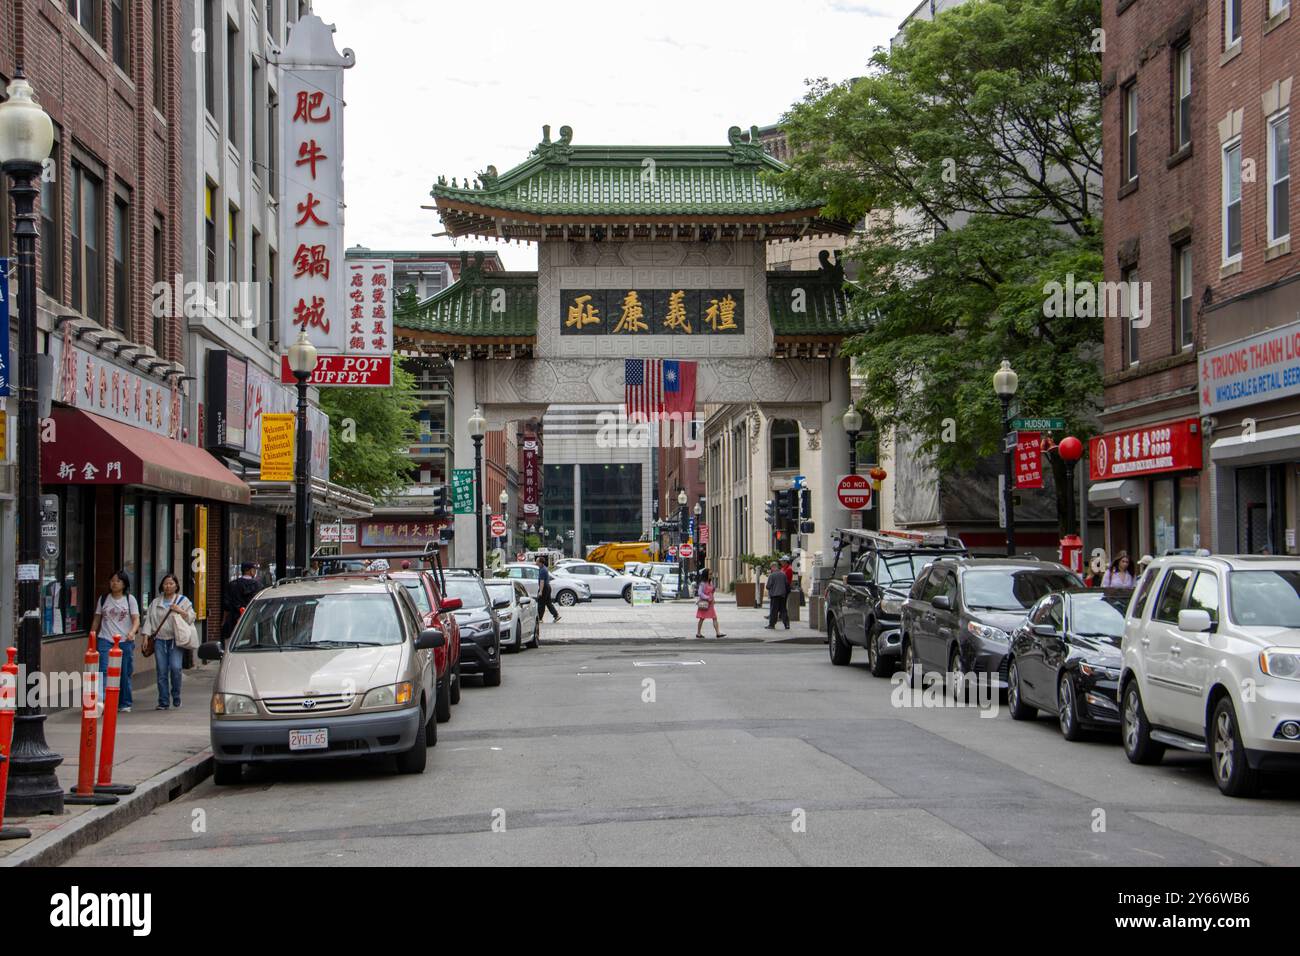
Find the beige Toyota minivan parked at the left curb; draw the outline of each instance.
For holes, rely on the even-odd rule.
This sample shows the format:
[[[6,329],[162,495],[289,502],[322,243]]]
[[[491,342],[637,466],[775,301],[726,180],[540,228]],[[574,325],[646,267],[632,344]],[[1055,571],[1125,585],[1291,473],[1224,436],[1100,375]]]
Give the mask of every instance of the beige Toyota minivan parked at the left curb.
[[[213,782],[244,763],[396,754],[424,773],[438,740],[433,656],[446,637],[382,578],[300,579],[260,591],[220,661],[211,705]],[[276,652],[276,653],[266,653]]]

